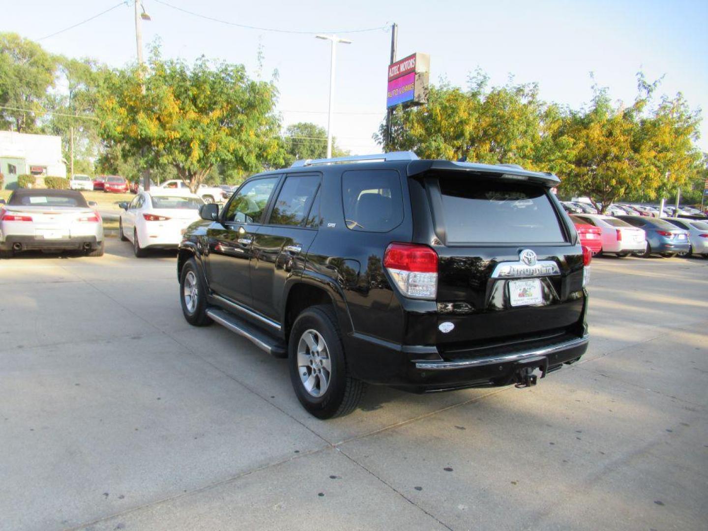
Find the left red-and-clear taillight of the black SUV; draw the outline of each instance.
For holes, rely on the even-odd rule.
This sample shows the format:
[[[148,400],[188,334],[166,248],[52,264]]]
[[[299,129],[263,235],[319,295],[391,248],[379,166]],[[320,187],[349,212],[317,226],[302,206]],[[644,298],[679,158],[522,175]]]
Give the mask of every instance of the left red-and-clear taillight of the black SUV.
[[[416,299],[435,299],[438,293],[438,253],[426,245],[390,244],[384,267],[401,293]]]

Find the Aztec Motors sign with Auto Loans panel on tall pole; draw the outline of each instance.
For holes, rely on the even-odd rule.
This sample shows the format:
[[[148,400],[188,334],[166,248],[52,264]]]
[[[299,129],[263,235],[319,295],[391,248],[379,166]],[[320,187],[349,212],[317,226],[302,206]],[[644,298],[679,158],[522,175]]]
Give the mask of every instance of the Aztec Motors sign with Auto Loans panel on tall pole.
[[[427,103],[429,70],[428,54],[414,53],[389,64],[387,108]]]

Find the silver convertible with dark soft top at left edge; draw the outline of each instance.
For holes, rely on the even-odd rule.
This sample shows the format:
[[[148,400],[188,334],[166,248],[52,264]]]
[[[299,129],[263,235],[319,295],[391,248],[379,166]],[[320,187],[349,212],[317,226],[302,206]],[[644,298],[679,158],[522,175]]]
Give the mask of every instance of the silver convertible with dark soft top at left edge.
[[[15,190],[0,204],[0,258],[34,249],[103,256],[103,221],[95,205],[76,190]]]

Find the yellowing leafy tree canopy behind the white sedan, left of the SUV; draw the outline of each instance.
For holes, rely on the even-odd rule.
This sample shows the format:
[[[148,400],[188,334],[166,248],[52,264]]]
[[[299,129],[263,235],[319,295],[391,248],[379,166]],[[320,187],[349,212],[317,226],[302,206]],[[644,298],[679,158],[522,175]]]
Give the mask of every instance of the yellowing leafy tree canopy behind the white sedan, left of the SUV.
[[[101,136],[143,164],[172,166],[195,191],[212,169],[282,166],[273,81],[255,81],[243,65],[191,66],[152,52],[149,68],[109,76],[98,105]]]

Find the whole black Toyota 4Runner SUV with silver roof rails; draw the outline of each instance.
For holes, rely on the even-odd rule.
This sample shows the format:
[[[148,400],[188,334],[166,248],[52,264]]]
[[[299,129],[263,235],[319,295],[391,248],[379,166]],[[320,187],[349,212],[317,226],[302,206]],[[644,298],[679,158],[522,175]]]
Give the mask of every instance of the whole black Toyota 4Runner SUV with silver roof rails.
[[[520,166],[407,152],[299,161],[204,205],[179,248],[185,319],[287,358],[314,416],[365,384],[535,384],[588,346],[590,253]]]

